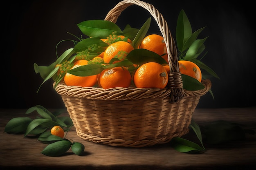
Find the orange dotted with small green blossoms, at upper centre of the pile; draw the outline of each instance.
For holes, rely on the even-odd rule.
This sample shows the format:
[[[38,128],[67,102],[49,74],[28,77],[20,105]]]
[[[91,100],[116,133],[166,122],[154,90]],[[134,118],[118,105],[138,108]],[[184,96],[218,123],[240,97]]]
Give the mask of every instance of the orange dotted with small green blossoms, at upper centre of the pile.
[[[128,53],[132,51],[134,48],[133,46],[125,41],[118,41],[110,44],[103,55],[103,60],[105,63],[109,63],[110,60],[114,57],[118,58],[119,60],[124,60]]]

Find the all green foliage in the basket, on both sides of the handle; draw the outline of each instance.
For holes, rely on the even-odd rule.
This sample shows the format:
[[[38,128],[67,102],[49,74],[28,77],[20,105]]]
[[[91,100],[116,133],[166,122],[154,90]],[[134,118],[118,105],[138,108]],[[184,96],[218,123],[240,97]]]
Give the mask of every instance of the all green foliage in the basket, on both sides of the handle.
[[[147,51],[145,49],[137,49],[143,38],[146,36],[148,29],[150,27],[151,18],[148,18],[146,22],[141,26],[140,29],[132,28],[130,25],[126,25],[124,30],[121,30],[117,24],[105,21],[105,20],[88,20],[83,21],[77,26],[83,33],[83,35],[89,37],[83,39],[76,37],[78,40],[63,40],[64,41],[72,41],[74,42],[74,48],[67,49],[61,56],[58,57],[57,60],[49,66],[38,66],[38,64],[34,63],[34,71],[36,73],[40,73],[40,76],[44,79],[43,83],[45,83],[49,79],[54,79],[57,85],[63,79],[65,73],[70,73],[78,76],[88,76],[88,75],[97,75],[101,73],[106,68],[113,68],[116,66],[132,66],[133,64],[144,64],[146,62],[157,62],[159,64],[166,64],[166,61],[158,54]],[[205,27],[204,27],[205,28]],[[197,39],[198,35],[204,29],[198,29],[194,33],[192,33],[191,24],[189,19],[186,16],[184,10],[182,10],[178,16],[177,27],[176,27],[176,41],[177,41],[177,49],[179,53],[179,60],[189,60],[195,62],[200,68],[206,70],[210,75],[218,78],[218,75],[211,70],[208,66],[206,66],[203,62],[198,59],[198,56],[204,51],[204,41],[207,38],[202,40]],[[99,64],[88,64],[86,66],[80,66],[74,68],[72,70],[67,70],[64,73],[61,73],[60,76],[57,76],[58,70],[60,68],[60,64],[63,62],[72,63],[77,55],[77,53],[86,51],[89,54],[89,58],[93,58],[97,56],[99,53],[105,51],[108,44],[103,42],[101,39],[108,37],[112,33],[116,33],[117,35],[124,35],[126,39],[129,38],[132,40],[132,46],[134,50],[128,54],[126,59],[122,62],[118,62],[116,64],[112,64],[114,61],[118,60],[114,58],[110,61],[110,64],[103,65],[103,63]],[[92,38],[90,38],[92,37]],[[59,43],[61,43],[59,42]],[[59,44],[58,43],[58,44]],[[57,44],[57,46],[58,46]],[[56,46],[56,48],[57,48]],[[130,71],[134,71],[136,68],[131,67]],[[184,84],[184,89],[195,91],[203,89],[204,86],[198,82],[196,79],[182,75],[182,80]],[[42,84],[43,84],[42,83]],[[42,84],[40,86],[42,86]],[[38,88],[39,91],[40,87]],[[212,94],[211,90],[210,93]],[[213,94],[212,94],[213,95]]]

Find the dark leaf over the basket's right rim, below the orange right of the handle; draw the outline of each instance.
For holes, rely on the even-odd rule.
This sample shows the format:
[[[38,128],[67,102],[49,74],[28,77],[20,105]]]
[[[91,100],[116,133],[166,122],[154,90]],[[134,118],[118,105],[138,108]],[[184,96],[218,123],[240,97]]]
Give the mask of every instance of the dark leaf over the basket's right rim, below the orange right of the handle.
[[[188,75],[181,75],[182,82],[183,82],[183,88],[188,91],[197,91],[204,89],[204,85],[200,83],[197,79],[190,77]]]

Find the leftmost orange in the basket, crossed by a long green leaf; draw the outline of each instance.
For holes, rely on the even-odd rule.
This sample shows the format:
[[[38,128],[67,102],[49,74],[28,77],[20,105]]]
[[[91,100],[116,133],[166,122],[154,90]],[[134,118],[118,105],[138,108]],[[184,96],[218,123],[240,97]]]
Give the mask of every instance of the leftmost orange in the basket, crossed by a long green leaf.
[[[78,60],[74,62],[74,66],[71,69],[87,65],[87,60]],[[66,73],[64,76],[64,82],[67,86],[81,86],[81,87],[92,87],[97,82],[97,75],[90,76],[76,76],[70,73]]]

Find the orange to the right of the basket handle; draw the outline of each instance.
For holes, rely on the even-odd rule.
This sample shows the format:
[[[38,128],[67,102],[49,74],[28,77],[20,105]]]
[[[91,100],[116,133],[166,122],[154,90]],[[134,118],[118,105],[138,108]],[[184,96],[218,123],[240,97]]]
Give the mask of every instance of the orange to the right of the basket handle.
[[[194,62],[186,60],[179,60],[178,62],[180,67],[180,73],[184,75],[189,75],[197,79],[199,82],[202,81],[202,72],[198,65],[196,65]]]

